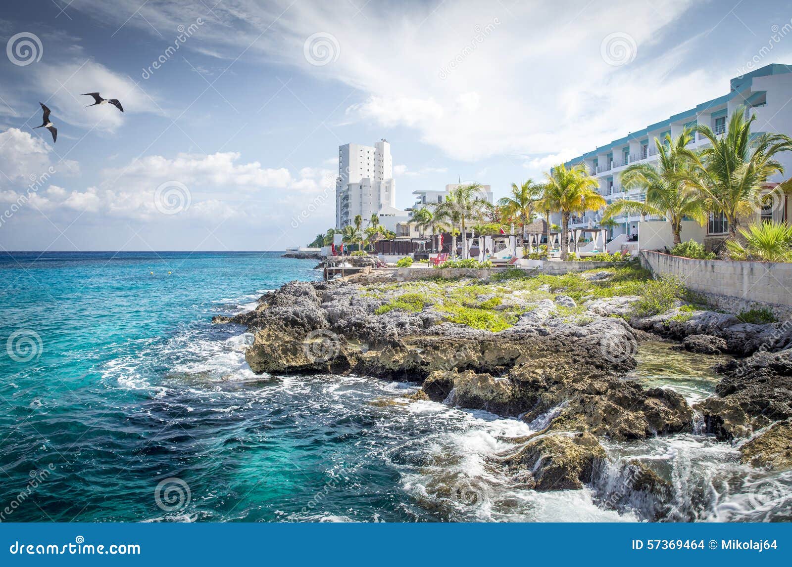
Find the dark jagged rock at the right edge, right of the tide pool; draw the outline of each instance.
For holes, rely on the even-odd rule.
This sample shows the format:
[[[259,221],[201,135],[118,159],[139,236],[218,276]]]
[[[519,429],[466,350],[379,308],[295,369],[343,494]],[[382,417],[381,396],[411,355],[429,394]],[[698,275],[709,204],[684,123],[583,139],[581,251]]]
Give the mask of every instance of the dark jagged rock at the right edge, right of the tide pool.
[[[698,406],[708,433],[747,437],[773,421],[792,418],[792,349],[759,352],[718,367],[725,377]]]

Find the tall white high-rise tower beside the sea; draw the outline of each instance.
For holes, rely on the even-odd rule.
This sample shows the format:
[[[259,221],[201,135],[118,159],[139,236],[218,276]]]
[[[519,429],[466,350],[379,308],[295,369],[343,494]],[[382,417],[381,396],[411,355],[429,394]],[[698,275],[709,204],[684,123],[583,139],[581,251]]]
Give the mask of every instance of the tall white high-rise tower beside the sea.
[[[389,230],[408,219],[406,211],[396,208],[393,158],[384,138],[374,146],[350,143],[338,147],[336,228],[351,225],[356,215],[367,223],[372,214]]]

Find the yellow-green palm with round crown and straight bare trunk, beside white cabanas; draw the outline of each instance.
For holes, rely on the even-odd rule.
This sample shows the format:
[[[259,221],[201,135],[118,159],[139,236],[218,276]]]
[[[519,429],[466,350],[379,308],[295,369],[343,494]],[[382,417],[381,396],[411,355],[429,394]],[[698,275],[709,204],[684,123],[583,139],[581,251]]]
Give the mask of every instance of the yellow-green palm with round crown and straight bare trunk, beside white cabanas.
[[[569,169],[565,164],[558,164],[545,176],[547,183],[539,206],[542,210],[561,213],[561,259],[565,260],[569,248],[569,217],[573,213],[600,210],[606,203],[596,192],[600,184],[588,175],[585,164],[573,165]]]

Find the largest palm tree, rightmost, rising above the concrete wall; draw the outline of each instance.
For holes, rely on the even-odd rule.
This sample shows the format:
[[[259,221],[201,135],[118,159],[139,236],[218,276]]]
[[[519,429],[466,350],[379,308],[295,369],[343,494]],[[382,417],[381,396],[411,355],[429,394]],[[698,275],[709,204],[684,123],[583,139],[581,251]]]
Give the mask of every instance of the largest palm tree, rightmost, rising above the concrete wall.
[[[729,223],[730,240],[737,239],[741,217],[756,211],[767,179],[784,172],[775,155],[792,150],[792,139],[784,134],[754,137],[751,133],[754,120],[756,115],[746,118],[745,108],[739,106],[729,118],[725,135],[719,136],[702,124],[693,128],[710,141],[711,147],[699,153],[680,150],[691,162],[687,185],[709,199],[714,212],[724,215]]]

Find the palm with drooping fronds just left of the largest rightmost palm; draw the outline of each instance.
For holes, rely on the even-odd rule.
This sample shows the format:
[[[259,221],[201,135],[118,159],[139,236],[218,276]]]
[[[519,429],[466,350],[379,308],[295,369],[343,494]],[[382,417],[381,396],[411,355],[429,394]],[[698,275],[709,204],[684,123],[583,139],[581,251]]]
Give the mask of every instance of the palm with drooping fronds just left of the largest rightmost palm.
[[[682,221],[685,217],[705,225],[707,202],[686,180],[693,176],[690,161],[680,153],[691,142],[691,130],[685,129],[672,140],[666,134],[664,142],[654,138],[657,164],[630,164],[622,173],[626,188],[640,187],[646,191],[645,202],[619,198],[605,210],[604,218],[611,220],[622,214],[642,214],[665,217],[671,224],[674,244],[680,244]]]

